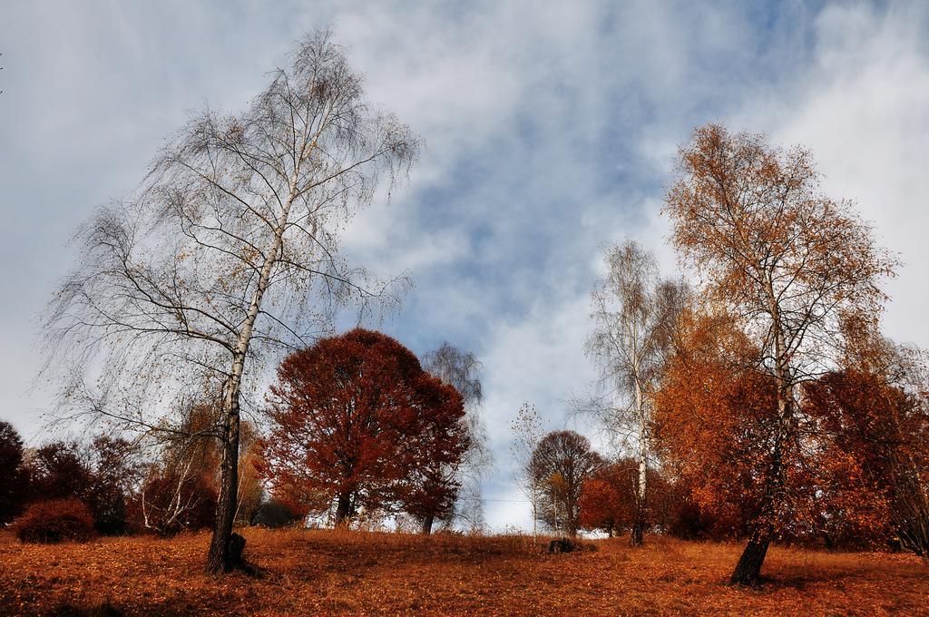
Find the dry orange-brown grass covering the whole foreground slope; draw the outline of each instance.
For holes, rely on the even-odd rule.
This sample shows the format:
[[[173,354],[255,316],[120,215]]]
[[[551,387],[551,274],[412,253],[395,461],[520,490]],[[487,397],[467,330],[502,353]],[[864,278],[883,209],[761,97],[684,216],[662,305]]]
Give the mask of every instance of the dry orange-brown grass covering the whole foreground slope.
[[[929,568],[899,555],[774,548],[769,582],[745,590],[725,584],[738,545],[649,537],[547,555],[514,537],[243,534],[262,572],[219,579],[201,571],[207,534],[83,545],[6,534],[0,614],[929,614]]]

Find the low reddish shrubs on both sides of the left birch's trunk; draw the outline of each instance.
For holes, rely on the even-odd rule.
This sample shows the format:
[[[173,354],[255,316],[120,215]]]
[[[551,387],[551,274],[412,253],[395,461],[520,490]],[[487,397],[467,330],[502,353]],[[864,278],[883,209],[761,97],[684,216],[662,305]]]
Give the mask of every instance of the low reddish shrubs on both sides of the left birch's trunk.
[[[191,425],[202,421],[202,408],[189,413]],[[264,491],[250,468],[256,441],[246,443],[237,520],[276,527],[299,519],[292,506]],[[9,473],[0,481],[0,524],[14,522],[20,537],[42,541],[209,528],[216,517],[216,454],[212,440],[203,438],[146,447],[102,434],[25,448],[2,422],[0,464]],[[68,522],[75,516],[80,520]],[[66,524],[76,526],[42,531]]]

